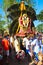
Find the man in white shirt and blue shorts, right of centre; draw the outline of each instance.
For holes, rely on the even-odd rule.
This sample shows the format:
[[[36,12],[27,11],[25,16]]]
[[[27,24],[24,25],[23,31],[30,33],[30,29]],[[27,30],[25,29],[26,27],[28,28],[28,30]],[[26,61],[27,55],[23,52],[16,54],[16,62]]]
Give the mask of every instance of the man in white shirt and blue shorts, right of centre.
[[[28,62],[30,63],[32,61],[33,54],[32,54],[31,42],[30,42],[29,36],[27,36],[23,39],[23,45],[26,48],[26,54],[28,56]]]

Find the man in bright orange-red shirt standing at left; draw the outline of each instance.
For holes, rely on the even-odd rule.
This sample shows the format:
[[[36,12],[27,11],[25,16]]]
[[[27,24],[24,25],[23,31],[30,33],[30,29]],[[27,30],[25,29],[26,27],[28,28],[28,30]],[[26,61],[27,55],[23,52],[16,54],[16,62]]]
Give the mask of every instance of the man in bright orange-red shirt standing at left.
[[[4,49],[4,58],[6,58],[6,62],[8,63],[9,61],[9,41],[7,39],[7,32],[4,32],[4,38],[2,39],[2,45]]]

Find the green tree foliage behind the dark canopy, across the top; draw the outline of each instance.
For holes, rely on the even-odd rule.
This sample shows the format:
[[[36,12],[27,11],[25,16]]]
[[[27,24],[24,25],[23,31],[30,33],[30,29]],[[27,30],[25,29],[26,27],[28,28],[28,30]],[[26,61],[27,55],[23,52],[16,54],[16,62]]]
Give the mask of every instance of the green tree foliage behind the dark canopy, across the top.
[[[14,3],[19,3],[19,1],[21,2],[22,0],[3,0],[3,10],[5,12],[5,19],[6,19],[6,23],[8,24],[8,19],[7,19],[7,8],[9,8],[10,6],[12,6]],[[33,4],[35,3],[34,0],[23,0],[24,2],[26,2],[28,5],[33,6]]]

